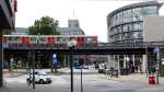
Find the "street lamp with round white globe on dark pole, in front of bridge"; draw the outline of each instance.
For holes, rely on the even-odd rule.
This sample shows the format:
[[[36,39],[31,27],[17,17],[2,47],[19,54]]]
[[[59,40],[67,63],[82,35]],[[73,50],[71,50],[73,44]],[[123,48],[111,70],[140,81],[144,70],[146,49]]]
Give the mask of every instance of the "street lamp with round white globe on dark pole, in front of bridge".
[[[72,49],[77,46],[77,41],[71,39],[70,42],[67,43],[67,46],[69,49],[72,51]],[[71,92],[73,92],[73,56],[72,54],[70,55],[70,69],[71,69]]]

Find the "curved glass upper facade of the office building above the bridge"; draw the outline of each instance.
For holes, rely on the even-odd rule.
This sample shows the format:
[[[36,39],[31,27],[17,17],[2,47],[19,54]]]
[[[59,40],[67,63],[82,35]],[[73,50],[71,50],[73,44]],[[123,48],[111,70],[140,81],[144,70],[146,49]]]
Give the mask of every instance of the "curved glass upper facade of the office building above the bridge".
[[[159,4],[124,8],[107,16],[108,42],[142,42],[143,18],[159,15]]]

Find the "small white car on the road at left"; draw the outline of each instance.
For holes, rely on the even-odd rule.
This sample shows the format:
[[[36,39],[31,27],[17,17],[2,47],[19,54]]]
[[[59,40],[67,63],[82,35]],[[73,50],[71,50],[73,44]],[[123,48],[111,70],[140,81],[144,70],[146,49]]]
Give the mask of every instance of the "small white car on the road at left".
[[[51,83],[52,80],[51,78],[45,72],[45,71],[40,71],[40,70],[36,70],[34,71],[35,73],[35,82],[37,83]],[[30,83],[33,80],[33,71],[30,71],[27,73],[27,79],[26,81]]]

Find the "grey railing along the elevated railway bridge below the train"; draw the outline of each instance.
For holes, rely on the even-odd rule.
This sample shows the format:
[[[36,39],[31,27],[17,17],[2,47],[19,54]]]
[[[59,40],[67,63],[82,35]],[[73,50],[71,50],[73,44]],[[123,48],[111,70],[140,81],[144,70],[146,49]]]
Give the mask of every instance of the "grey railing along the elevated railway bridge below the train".
[[[122,48],[153,48],[164,47],[164,42],[136,42],[136,43],[98,43],[77,46],[74,49],[122,49]],[[69,49],[67,44],[3,44],[9,49]]]

